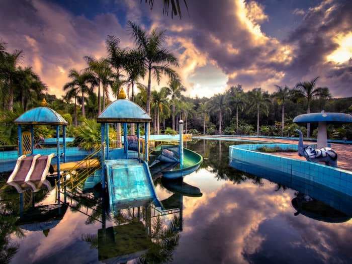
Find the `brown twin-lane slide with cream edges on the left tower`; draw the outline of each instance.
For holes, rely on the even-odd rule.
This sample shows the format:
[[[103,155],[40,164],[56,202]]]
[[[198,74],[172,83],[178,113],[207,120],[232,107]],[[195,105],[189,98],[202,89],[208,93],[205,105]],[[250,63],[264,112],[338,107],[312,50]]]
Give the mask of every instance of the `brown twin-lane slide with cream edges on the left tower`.
[[[54,156],[54,153],[45,156],[20,156],[7,184],[15,187],[19,193],[23,193],[28,187],[32,188],[33,192],[38,192],[43,184],[50,191],[52,186],[46,176]]]

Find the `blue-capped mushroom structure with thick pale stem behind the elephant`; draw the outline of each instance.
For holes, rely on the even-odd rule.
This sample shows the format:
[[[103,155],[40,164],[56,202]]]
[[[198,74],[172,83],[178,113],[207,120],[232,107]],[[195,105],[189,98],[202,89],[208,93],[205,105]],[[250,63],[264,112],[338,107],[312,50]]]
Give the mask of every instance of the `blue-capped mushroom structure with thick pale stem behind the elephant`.
[[[310,113],[296,116],[293,119],[294,123],[318,123],[318,140],[317,148],[327,146],[327,123],[352,123],[352,115],[343,113]]]

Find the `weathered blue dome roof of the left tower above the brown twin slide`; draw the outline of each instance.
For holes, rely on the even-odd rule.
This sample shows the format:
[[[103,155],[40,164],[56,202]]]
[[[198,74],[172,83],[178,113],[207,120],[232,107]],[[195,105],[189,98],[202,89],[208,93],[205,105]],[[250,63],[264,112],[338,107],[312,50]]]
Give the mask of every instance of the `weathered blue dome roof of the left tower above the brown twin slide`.
[[[67,125],[57,112],[48,107],[37,107],[23,113],[15,120],[15,124],[37,124],[37,125]]]

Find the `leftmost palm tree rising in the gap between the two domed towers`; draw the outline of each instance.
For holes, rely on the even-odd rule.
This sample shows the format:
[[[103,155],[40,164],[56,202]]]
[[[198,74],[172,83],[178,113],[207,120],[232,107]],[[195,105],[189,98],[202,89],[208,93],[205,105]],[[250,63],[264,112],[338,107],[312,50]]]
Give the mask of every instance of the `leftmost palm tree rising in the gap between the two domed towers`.
[[[89,93],[91,88],[87,85],[89,83],[94,83],[94,77],[90,72],[78,72],[75,69],[71,69],[68,73],[68,77],[72,80],[67,82],[63,86],[63,90],[77,88],[77,93],[81,94],[81,105],[82,105],[82,117],[85,118],[84,111],[84,94]]]

